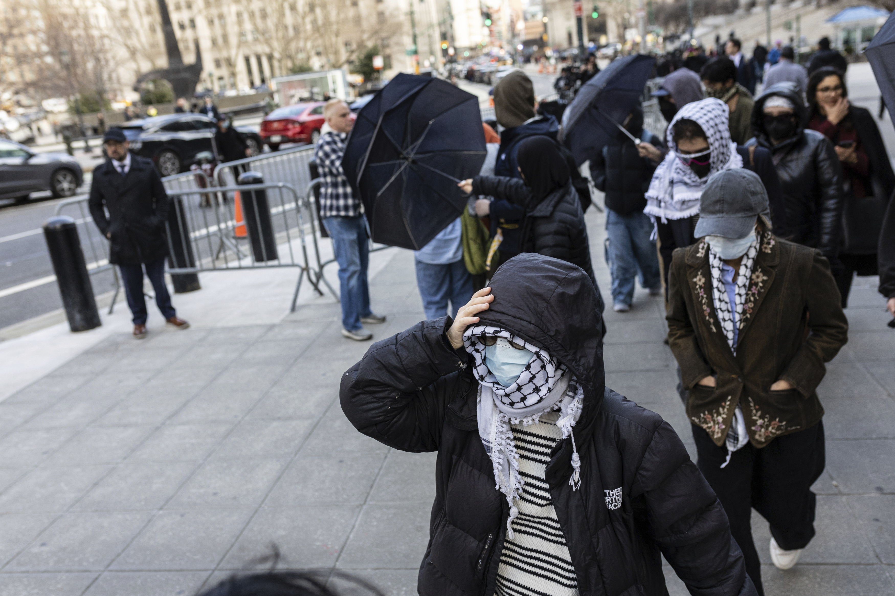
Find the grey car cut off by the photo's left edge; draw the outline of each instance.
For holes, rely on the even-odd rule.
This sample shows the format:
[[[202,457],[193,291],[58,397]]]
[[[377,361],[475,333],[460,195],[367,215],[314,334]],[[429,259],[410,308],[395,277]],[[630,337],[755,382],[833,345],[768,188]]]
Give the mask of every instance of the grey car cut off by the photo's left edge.
[[[24,202],[38,190],[49,190],[54,197],[71,197],[83,180],[81,165],[72,155],[34,153],[24,145],[0,139],[0,198]]]

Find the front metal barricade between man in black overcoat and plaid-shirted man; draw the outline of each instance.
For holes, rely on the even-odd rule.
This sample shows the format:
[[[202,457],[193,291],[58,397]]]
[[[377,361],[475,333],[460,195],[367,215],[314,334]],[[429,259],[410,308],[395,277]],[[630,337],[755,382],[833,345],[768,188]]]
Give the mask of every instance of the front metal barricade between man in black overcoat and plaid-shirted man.
[[[305,214],[308,206],[306,199],[300,197],[291,184],[285,182],[265,184],[245,184],[240,186],[218,186],[211,189],[215,195],[209,206],[202,206],[201,196],[207,194],[207,189],[184,189],[168,192],[168,197],[183,208],[175,208],[178,227],[184,233],[175,237],[168,228],[168,243],[172,254],[175,253],[174,242],[180,242],[180,254],[190,255],[192,266],[175,266],[170,268],[170,273],[200,273],[209,271],[236,270],[236,269],[267,269],[271,267],[298,267],[301,271],[298,281],[295,283],[295,291],[292,298],[290,311],[294,312],[298,300],[298,292],[301,290],[305,275],[311,282],[314,290],[321,296],[320,281],[326,285],[332,295],[338,299],[336,290],[329,285],[323,277],[323,266],[320,264],[320,250],[317,244],[317,235],[314,233],[314,222],[311,215],[309,224],[305,222]],[[263,226],[252,227],[236,221],[234,200],[230,197],[235,192],[240,192],[243,197],[252,191],[265,191],[267,193],[269,213],[259,212],[258,203],[243,199],[243,209],[255,209],[255,221],[268,218],[271,222],[270,231],[276,239],[277,251],[275,255],[269,255],[265,249],[265,242],[260,240],[261,255],[251,255],[251,250],[240,249],[240,239],[246,239],[251,246],[253,233],[263,233]],[[239,228],[243,226],[244,232]],[[309,243],[307,241],[306,228],[311,230],[310,248],[313,251],[314,264],[308,254]],[[260,257],[260,258],[259,258]]]

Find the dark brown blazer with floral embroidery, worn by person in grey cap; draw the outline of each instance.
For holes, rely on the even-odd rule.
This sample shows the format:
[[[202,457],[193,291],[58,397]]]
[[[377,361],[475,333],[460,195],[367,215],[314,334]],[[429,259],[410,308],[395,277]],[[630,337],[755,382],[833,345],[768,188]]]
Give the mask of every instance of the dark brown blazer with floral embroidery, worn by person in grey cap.
[[[815,389],[825,363],[848,340],[848,320],[830,264],[820,251],[762,233],[743,307],[737,355],[715,313],[708,245],[674,251],[669,272],[669,346],[689,390],[686,415],[723,445],[737,404],[749,439],[774,437],[817,424],[823,407]],[[716,375],[715,387],[697,383]],[[795,389],[771,391],[783,379]]]

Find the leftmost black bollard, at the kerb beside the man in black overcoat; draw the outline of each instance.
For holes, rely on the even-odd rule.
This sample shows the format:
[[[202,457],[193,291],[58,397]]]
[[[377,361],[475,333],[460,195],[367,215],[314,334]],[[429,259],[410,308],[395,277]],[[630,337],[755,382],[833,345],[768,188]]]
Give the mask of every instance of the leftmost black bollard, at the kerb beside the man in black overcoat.
[[[86,332],[103,324],[74,220],[66,215],[51,217],[44,223],[44,237],[72,332]]]

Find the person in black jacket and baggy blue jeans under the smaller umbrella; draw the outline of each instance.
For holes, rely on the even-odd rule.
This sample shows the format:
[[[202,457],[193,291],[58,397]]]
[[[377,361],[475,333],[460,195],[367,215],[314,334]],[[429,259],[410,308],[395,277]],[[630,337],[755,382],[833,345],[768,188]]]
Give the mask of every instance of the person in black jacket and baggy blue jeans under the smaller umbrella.
[[[642,143],[663,150],[661,140],[644,129],[644,110],[640,105],[628,114],[625,129]],[[645,156],[618,130],[609,143],[591,157],[591,175],[598,190],[606,193],[606,260],[612,274],[612,308],[627,312],[634,300],[634,281],[640,271],[640,284],[652,296],[661,294],[659,257],[656,243],[650,240],[652,222],[644,214],[652,173],[658,162]]]

